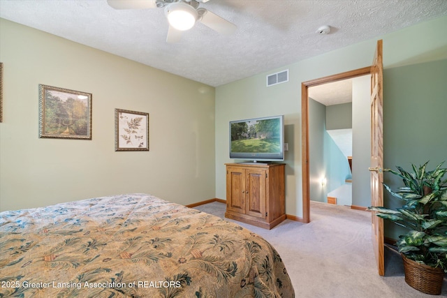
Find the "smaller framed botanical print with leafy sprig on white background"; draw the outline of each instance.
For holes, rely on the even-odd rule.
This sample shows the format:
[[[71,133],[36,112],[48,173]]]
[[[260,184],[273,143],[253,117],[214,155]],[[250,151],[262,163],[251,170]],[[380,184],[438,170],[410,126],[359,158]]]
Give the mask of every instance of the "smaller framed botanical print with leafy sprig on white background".
[[[115,109],[115,151],[149,151],[149,113]]]

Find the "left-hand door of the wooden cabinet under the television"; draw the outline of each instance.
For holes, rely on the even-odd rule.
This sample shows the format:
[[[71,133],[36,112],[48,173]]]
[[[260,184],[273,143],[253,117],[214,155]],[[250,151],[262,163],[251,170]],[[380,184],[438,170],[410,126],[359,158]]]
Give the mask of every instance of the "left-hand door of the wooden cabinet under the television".
[[[226,175],[227,209],[245,214],[245,171],[236,167],[228,167]]]

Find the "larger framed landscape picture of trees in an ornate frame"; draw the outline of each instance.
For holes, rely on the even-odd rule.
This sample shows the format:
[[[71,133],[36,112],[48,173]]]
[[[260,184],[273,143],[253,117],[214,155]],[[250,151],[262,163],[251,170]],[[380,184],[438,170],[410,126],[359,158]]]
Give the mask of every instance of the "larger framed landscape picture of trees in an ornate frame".
[[[39,84],[39,137],[91,140],[91,94]]]

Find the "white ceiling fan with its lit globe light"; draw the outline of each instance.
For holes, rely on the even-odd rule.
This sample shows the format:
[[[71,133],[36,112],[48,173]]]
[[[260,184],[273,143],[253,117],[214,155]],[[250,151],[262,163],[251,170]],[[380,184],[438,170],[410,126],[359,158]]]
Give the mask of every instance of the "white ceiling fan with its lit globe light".
[[[115,9],[164,8],[169,22],[167,43],[177,43],[182,31],[191,29],[196,22],[201,22],[223,35],[234,33],[237,28],[235,24],[210,10],[198,7],[200,2],[207,1],[210,0],[107,0],[107,3]]]

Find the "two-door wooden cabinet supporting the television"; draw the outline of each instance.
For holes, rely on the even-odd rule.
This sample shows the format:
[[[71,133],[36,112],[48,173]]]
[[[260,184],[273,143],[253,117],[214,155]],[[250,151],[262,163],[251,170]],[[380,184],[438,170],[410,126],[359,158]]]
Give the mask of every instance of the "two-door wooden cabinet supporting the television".
[[[226,163],[225,217],[271,229],[286,219],[284,163]]]

